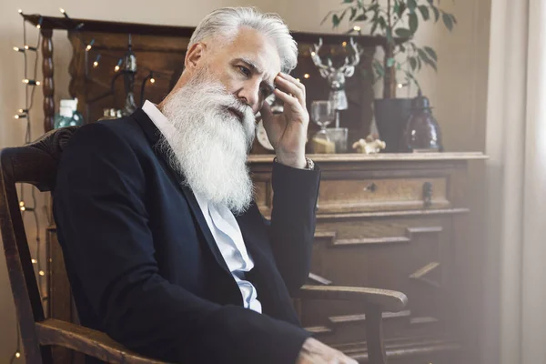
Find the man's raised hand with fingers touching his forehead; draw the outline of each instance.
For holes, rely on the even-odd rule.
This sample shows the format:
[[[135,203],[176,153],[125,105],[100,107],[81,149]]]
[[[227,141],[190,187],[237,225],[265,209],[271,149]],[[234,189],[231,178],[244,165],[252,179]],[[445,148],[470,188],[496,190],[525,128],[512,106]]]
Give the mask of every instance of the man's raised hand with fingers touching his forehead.
[[[268,103],[260,110],[269,142],[275,148],[279,163],[290,167],[303,168],[305,142],[309,115],[305,106],[305,86],[297,79],[284,73],[275,77],[275,96],[284,101],[284,112],[273,115]]]

